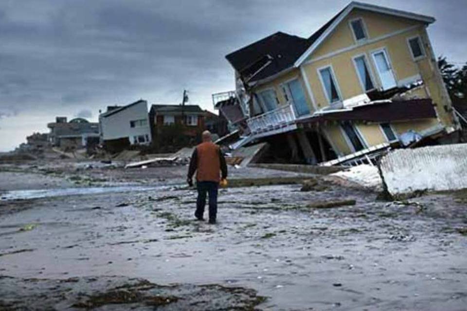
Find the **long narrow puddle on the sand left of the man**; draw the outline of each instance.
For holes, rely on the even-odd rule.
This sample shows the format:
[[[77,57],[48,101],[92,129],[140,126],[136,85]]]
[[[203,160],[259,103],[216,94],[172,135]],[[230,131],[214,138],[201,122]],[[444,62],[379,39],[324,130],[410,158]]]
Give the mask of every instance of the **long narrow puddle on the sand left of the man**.
[[[12,190],[1,194],[1,200],[27,200],[57,196],[80,195],[80,194],[101,194],[115,192],[137,192],[148,190],[169,190],[182,184],[171,184],[165,186],[118,186],[118,187],[88,187],[88,188],[65,188],[65,189],[43,189],[43,190]]]

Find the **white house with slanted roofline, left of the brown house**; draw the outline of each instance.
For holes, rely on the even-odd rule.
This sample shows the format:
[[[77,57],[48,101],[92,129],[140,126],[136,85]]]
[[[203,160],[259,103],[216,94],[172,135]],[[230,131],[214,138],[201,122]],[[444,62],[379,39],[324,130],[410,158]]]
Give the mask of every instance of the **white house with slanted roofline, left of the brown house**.
[[[139,100],[126,106],[108,106],[99,115],[102,141],[128,138],[131,145],[152,141],[147,102]]]

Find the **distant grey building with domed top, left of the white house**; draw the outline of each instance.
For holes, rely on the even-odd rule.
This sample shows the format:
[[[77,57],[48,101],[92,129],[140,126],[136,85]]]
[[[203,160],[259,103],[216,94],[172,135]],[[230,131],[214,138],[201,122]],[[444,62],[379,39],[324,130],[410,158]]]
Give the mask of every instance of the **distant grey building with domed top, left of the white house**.
[[[56,117],[47,127],[50,129],[49,141],[55,147],[79,149],[99,141],[99,123],[83,118],[67,122],[66,117]]]

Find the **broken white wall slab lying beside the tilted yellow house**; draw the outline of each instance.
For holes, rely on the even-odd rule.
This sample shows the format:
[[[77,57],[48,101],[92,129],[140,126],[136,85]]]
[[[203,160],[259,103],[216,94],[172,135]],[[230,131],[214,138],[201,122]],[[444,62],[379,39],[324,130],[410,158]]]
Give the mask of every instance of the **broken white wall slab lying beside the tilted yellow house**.
[[[381,173],[392,195],[416,190],[467,188],[467,144],[399,149],[381,158]]]

